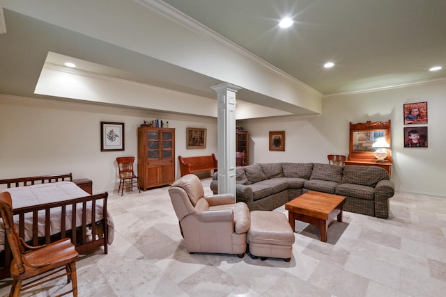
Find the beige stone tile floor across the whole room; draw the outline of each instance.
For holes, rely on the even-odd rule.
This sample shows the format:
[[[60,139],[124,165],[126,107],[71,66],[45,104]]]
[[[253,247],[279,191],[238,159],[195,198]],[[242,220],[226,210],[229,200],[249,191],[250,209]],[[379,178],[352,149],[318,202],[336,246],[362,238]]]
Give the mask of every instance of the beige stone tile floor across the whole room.
[[[202,179],[206,193],[210,179]],[[396,194],[390,218],[344,212],[328,242],[318,229],[296,222],[293,257],[190,255],[168,187],[109,196],[116,232],[109,253],[77,262],[79,296],[444,296],[446,200]],[[283,211],[284,207],[277,209]],[[65,286],[65,287],[64,287]],[[54,296],[64,280],[43,292]],[[69,286],[69,285],[68,285]],[[10,281],[0,281],[7,296]]]

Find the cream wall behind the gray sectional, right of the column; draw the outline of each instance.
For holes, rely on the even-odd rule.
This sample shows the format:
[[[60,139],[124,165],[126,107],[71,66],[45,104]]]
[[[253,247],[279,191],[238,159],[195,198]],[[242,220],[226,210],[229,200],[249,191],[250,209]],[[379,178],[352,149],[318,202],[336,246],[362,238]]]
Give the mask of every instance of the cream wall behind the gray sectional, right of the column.
[[[391,120],[392,179],[397,191],[446,198],[446,81],[323,99],[322,114],[241,121],[249,130],[250,163],[327,163],[327,154],[348,155],[349,122]],[[429,147],[403,147],[403,104],[428,102]],[[424,126],[424,125],[413,125]],[[268,131],[286,131],[286,151],[270,152]]]

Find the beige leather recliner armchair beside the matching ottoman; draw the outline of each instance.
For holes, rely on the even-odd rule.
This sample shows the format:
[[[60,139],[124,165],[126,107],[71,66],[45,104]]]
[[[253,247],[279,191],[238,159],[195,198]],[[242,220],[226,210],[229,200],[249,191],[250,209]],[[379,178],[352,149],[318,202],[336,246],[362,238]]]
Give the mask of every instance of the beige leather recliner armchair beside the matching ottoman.
[[[205,196],[197,175],[185,175],[169,188],[187,252],[245,255],[249,209],[232,194]]]

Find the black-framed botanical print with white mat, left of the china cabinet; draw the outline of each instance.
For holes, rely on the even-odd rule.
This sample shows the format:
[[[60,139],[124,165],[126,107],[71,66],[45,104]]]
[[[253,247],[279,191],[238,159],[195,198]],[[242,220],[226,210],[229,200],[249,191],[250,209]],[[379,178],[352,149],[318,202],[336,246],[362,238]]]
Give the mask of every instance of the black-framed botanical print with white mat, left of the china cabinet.
[[[100,122],[100,151],[124,150],[124,123]]]

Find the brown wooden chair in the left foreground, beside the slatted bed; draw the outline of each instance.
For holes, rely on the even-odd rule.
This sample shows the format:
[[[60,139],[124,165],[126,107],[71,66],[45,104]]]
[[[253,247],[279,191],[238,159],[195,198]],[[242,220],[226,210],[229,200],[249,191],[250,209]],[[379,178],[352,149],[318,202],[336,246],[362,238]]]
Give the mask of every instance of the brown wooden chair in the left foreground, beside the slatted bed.
[[[18,297],[20,291],[40,286],[65,275],[68,283],[72,283],[72,289],[59,296],[70,293],[77,296],[76,260],[79,254],[71,240],[67,238],[43,246],[28,246],[19,236],[13,223],[12,200],[8,192],[0,193],[0,214],[14,257],[10,264],[13,284],[9,296]],[[24,280],[36,275],[39,277],[22,284]]]

